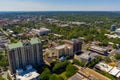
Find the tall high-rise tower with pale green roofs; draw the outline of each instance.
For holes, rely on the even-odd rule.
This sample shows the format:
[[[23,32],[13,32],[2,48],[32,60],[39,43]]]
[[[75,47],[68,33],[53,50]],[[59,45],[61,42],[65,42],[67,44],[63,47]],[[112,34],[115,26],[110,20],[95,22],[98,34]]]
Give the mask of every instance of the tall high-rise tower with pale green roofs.
[[[44,63],[42,44],[37,38],[25,43],[9,44],[7,55],[11,74],[15,74],[16,69],[24,69],[27,65],[36,66]]]

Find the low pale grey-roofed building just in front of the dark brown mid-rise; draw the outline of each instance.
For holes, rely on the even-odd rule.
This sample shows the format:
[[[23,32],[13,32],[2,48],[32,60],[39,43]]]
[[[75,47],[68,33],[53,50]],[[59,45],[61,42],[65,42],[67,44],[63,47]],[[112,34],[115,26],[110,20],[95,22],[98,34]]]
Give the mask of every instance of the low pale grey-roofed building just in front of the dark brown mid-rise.
[[[91,52],[86,52],[81,55],[75,55],[75,59],[81,61],[81,62],[90,62],[91,60],[97,58],[97,54],[91,53]]]

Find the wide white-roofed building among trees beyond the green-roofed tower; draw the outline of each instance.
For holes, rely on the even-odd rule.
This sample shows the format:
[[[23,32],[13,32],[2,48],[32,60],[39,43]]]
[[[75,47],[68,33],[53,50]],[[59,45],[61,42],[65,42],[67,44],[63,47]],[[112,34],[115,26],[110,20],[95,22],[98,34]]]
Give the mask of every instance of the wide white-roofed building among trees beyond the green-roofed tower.
[[[49,33],[51,33],[51,30],[50,29],[47,29],[47,28],[40,28],[40,30],[38,29],[32,29],[32,32],[37,34],[37,35],[47,35]]]

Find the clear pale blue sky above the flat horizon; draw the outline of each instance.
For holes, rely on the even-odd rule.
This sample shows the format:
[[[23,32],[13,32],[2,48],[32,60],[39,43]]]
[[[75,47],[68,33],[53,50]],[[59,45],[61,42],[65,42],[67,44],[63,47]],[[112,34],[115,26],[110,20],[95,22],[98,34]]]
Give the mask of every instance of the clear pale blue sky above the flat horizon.
[[[0,11],[120,11],[120,0],[0,0]]]

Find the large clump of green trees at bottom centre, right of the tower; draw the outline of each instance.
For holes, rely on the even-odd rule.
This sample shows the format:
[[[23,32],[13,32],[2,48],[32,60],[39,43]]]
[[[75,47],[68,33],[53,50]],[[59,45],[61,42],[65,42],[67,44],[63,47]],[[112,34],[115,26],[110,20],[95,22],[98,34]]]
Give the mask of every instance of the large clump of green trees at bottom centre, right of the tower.
[[[77,72],[77,68],[68,61],[65,62],[53,62],[53,66],[45,68],[40,75],[41,80],[66,80]],[[63,74],[65,73],[65,74]],[[64,76],[60,76],[63,74]]]

